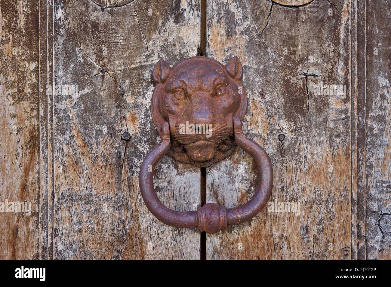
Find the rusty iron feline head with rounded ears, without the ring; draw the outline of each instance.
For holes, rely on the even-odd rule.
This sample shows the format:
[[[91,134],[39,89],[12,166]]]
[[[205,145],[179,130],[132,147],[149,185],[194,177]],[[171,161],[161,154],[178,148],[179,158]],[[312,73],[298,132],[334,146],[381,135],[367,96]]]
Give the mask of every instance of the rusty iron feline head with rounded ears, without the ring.
[[[172,68],[163,59],[156,63],[152,118],[158,131],[169,123],[168,155],[206,167],[232,153],[233,117],[243,119],[247,107],[242,72],[236,56],[225,66],[207,57],[191,57]]]

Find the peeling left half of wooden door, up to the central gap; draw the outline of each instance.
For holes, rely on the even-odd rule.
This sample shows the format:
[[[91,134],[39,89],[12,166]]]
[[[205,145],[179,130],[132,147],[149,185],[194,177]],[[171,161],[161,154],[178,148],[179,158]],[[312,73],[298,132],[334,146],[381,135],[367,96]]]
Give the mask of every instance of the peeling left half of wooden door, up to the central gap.
[[[34,209],[0,214],[2,259],[200,257],[199,234],[160,223],[138,189],[141,162],[159,142],[151,70],[160,58],[197,55],[199,3],[110,4],[1,2],[0,200]],[[166,157],[155,184],[172,209],[200,204],[198,168]]]

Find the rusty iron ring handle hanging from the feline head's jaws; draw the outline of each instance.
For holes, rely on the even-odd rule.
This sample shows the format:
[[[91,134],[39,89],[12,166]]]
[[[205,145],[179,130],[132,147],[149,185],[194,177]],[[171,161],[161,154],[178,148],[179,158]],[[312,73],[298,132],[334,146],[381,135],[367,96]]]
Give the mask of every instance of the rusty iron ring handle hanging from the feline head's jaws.
[[[256,216],[266,205],[273,187],[273,168],[269,156],[257,143],[248,139],[242,130],[239,118],[233,119],[235,142],[247,152],[256,163],[258,171],[258,185],[253,198],[240,207],[226,209],[215,203],[206,203],[198,207],[197,211],[179,212],[166,207],[156,195],[151,172],[159,160],[170,148],[169,123],[164,122],[161,127],[162,141],[143,160],[139,174],[139,185],[145,205],[161,222],[179,228],[197,227],[199,232],[216,233],[224,230],[227,225],[248,221]]]

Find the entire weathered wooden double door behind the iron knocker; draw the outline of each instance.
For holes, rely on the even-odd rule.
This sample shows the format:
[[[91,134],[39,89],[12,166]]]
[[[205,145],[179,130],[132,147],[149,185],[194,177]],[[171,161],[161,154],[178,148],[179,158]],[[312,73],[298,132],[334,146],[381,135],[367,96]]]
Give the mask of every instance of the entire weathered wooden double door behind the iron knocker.
[[[0,212],[0,258],[391,259],[390,11],[385,0],[2,0],[0,201],[31,212]],[[160,140],[152,68],[196,55],[239,57],[244,133],[274,170],[258,216],[206,236],[158,221],[138,186]],[[201,169],[164,157],[154,180],[183,211],[241,205],[256,181],[239,149]]]

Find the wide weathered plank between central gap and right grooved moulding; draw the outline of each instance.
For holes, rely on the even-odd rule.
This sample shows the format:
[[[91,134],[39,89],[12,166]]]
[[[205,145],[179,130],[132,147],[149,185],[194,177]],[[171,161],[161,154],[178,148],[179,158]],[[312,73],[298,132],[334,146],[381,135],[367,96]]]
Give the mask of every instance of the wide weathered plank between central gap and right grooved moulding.
[[[208,236],[208,259],[350,258],[349,3],[207,2],[206,55],[242,61],[244,132],[264,146],[274,168],[270,205],[248,223]],[[316,94],[321,84],[346,85],[347,95]],[[239,150],[215,164],[207,201],[248,201],[252,165]],[[274,201],[300,203],[300,215],[268,212]]]

